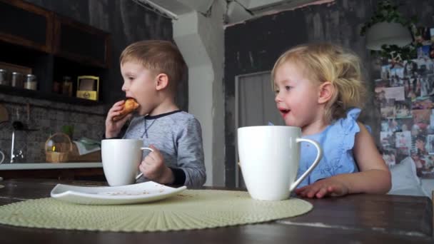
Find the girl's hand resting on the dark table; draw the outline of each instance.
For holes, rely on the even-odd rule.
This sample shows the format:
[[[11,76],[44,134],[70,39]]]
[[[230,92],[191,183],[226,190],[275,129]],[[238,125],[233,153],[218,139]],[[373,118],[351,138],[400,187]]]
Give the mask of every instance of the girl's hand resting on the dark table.
[[[348,194],[348,187],[338,179],[330,177],[298,188],[296,194],[303,198],[323,198],[327,195],[340,196]]]

